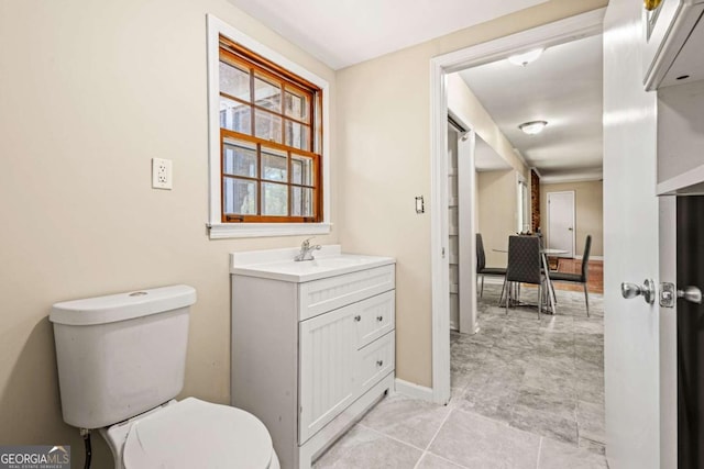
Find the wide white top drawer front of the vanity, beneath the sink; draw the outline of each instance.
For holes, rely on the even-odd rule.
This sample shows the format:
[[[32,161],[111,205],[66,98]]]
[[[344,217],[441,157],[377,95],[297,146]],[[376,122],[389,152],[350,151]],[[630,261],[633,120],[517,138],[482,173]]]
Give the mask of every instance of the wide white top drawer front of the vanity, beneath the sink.
[[[299,284],[299,321],[393,290],[394,265]]]

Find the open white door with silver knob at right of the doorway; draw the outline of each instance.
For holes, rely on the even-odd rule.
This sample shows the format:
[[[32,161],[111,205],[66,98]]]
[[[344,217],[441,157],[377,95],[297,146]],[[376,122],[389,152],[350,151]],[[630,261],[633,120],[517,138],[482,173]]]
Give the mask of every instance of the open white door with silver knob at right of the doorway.
[[[674,369],[663,351],[675,338],[661,326],[672,310],[620,292],[622,282],[657,282],[660,249],[671,248],[669,237],[659,235],[657,97],[642,86],[641,10],[640,2],[612,0],[604,20],[604,355],[612,469],[676,467],[667,422],[676,409],[660,392]]]

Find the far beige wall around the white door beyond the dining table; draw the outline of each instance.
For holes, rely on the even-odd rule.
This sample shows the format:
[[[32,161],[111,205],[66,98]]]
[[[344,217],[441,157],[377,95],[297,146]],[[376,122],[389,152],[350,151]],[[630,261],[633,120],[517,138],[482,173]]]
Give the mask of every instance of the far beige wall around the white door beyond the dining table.
[[[604,196],[602,181],[544,183],[540,182],[540,220],[548,235],[548,192],[574,191],[574,244],[576,255],[584,254],[584,239],[592,235],[591,256],[604,255]]]

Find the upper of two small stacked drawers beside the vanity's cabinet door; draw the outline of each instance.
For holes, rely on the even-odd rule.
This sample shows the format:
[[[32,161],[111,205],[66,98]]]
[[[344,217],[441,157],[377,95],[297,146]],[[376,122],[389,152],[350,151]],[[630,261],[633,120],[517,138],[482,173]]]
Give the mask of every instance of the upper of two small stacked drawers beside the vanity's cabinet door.
[[[354,316],[356,346],[362,348],[394,330],[396,290],[369,298],[359,304]]]

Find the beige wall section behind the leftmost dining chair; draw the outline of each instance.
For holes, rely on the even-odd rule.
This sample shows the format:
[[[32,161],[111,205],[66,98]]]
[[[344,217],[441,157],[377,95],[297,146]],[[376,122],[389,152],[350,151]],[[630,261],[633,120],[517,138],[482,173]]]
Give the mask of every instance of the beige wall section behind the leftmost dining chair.
[[[516,176],[513,169],[477,172],[476,186],[481,201],[477,210],[479,232],[482,233],[488,267],[506,267],[506,253],[493,249],[507,249],[508,236],[517,231]]]

